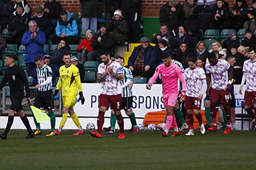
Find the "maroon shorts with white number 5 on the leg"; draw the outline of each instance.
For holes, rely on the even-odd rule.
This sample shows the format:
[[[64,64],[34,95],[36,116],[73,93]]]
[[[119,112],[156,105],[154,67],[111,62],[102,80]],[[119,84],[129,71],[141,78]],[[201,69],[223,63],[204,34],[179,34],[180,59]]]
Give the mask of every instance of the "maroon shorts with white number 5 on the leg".
[[[101,95],[99,95],[99,107],[105,106],[106,108],[109,108],[109,104],[111,104],[111,109],[113,109],[114,111],[119,111],[122,108],[121,103],[122,103],[121,94],[117,94],[117,95],[101,94]]]

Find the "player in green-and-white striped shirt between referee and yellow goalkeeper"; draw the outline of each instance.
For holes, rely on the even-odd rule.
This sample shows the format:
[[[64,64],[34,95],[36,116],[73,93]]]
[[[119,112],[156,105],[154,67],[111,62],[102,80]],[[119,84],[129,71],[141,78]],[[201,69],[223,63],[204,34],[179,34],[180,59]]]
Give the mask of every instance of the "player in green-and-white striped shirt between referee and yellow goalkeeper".
[[[37,96],[35,97],[34,106],[37,108],[43,108],[48,111],[49,117],[51,118],[51,131],[46,136],[55,135],[55,115],[53,113],[53,92],[52,92],[52,78],[53,72],[51,71],[51,67],[47,66],[43,62],[42,56],[37,56],[35,58],[35,64],[37,65],[37,85],[35,85],[35,89],[38,90]],[[36,130],[34,132],[35,135],[41,135],[42,131],[40,128],[40,124],[35,120]]]

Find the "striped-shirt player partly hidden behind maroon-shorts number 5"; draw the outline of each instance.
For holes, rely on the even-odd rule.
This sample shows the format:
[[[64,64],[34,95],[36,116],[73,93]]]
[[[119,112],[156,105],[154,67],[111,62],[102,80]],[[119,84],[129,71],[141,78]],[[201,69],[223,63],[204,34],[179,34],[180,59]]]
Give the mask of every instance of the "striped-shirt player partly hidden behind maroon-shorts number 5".
[[[133,104],[133,96],[131,92],[131,88],[133,87],[133,74],[129,68],[125,68],[124,65],[124,59],[121,56],[115,56],[115,61],[119,62],[119,64],[122,66],[122,72],[124,75],[123,80],[120,81],[121,88],[122,88],[122,109],[125,110],[125,114],[129,116],[131,125],[133,126],[133,133],[138,133],[138,126],[136,123],[135,114],[132,110],[132,104]],[[111,129],[109,131],[106,131],[105,134],[114,134],[115,133],[115,122],[117,121],[117,116],[115,116],[115,113],[113,110],[111,111],[111,119],[110,119],[110,126]]]

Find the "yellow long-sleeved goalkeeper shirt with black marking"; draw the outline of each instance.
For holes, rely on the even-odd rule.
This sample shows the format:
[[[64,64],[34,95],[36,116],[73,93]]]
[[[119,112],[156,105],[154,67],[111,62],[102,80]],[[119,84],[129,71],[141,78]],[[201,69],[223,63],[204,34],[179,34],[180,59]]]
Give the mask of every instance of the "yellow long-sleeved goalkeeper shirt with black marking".
[[[57,90],[61,89],[62,96],[77,96],[77,91],[82,92],[80,74],[78,68],[70,64],[59,68],[59,81]]]

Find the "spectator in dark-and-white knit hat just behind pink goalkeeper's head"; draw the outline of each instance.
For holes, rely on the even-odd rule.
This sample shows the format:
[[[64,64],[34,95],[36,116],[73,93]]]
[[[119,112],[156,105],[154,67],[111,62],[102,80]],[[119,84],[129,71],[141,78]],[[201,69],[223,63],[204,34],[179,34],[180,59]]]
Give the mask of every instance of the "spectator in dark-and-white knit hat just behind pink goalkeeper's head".
[[[165,38],[159,39],[158,40],[158,47],[157,47],[157,53],[158,53],[158,58],[156,64],[158,65],[160,62],[162,62],[161,55],[163,52],[172,54],[173,49],[169,46],[169,41]]]

